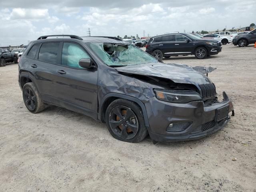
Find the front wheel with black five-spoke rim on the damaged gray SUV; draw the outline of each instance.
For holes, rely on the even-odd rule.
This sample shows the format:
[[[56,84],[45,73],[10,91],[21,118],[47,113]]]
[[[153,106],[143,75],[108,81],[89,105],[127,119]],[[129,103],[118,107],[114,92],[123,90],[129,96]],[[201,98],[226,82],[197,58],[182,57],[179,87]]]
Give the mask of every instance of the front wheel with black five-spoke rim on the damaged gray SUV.
[[[148,135],[141,108],[129,100],[114,100],[106,110],[105,121],[110,134],[121,141],[137,143]]]

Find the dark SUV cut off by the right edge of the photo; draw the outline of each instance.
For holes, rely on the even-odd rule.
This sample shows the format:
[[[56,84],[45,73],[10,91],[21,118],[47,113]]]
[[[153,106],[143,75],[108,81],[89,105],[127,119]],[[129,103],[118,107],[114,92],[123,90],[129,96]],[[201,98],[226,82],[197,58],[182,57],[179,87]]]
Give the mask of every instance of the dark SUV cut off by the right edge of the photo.
[[[236,46],[245,47],[256,42],[256,29],[247,34],[240,34],[234,37],[232,43]]]

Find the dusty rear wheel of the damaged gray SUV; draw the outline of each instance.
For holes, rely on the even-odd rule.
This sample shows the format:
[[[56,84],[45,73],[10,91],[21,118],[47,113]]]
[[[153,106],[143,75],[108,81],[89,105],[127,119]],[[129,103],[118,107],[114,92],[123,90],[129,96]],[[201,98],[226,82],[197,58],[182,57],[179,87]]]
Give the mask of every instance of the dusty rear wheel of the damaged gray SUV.
[[[34,83],[29,82],[22,89],[23,101],[26,108],[32,113],[38,113],[45,109],[45,104],[41,100]]]

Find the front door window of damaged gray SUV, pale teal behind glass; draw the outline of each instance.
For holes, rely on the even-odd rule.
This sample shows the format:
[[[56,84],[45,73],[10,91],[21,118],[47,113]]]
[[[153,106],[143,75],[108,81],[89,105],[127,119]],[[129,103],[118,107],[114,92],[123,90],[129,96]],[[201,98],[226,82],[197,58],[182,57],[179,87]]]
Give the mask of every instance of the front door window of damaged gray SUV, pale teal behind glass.
[[[80,59],[90,59],[85,50],[74,43],[64,43],[62,48],[61,63],[64,66],[82,68],[79,66]]]

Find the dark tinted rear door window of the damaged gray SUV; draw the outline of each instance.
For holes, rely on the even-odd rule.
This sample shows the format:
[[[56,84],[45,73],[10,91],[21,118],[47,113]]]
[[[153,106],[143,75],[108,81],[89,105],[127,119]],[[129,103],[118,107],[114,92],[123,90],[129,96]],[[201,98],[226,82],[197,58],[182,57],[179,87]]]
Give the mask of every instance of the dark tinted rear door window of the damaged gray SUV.
[[[50,63],[57,63],[59,44],[59,42],[42,44],[38,54],[38,60]]]

